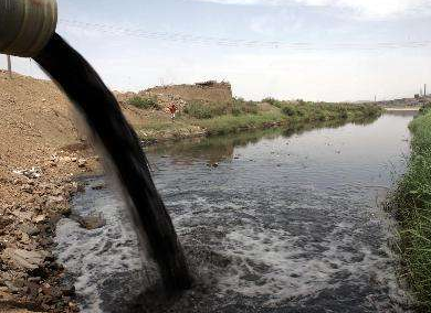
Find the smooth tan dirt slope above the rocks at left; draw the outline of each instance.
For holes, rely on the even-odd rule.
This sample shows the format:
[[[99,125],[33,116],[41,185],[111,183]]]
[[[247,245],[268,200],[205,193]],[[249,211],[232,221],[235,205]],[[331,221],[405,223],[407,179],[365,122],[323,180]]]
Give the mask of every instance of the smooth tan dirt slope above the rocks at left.
[[[0,179],[78,142],[69,100],[51,82],[0,72]],[[10,191],[0,187],[0,198]]]

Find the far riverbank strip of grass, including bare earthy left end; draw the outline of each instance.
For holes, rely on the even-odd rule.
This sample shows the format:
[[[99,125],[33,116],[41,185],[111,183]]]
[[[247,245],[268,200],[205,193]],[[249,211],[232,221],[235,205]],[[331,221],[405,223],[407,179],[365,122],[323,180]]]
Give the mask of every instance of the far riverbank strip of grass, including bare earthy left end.
[[[276,102],[275,102],[276,101]],[[320,121],[354,121],[380,116],[381,109],[371,106],[344,104],[313,104],[277,101],[245,101],[238,98],[231,102],[189,102],[176,122],[151,121],[138,128],[139,133],[151,138],[185,138],[199,131],[208,136],[239,132],[248,129],[265,129],[290,123]]]

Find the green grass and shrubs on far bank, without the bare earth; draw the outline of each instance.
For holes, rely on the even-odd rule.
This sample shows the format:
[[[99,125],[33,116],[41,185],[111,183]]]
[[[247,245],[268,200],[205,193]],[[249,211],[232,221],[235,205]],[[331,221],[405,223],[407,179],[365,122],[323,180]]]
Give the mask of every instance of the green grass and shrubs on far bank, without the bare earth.
[[[347,105],[305,101],[280,101],[265,99],[270,110],[260,110],[254,101],[234,99],[232,104],[190,104],[185,114],[196,118],[196,123],[208,134],[238,132],[244,129],[266,128],[286,122],[316,122],[329,120],[355,120],[377,117],[381,108],[372,105]]]

